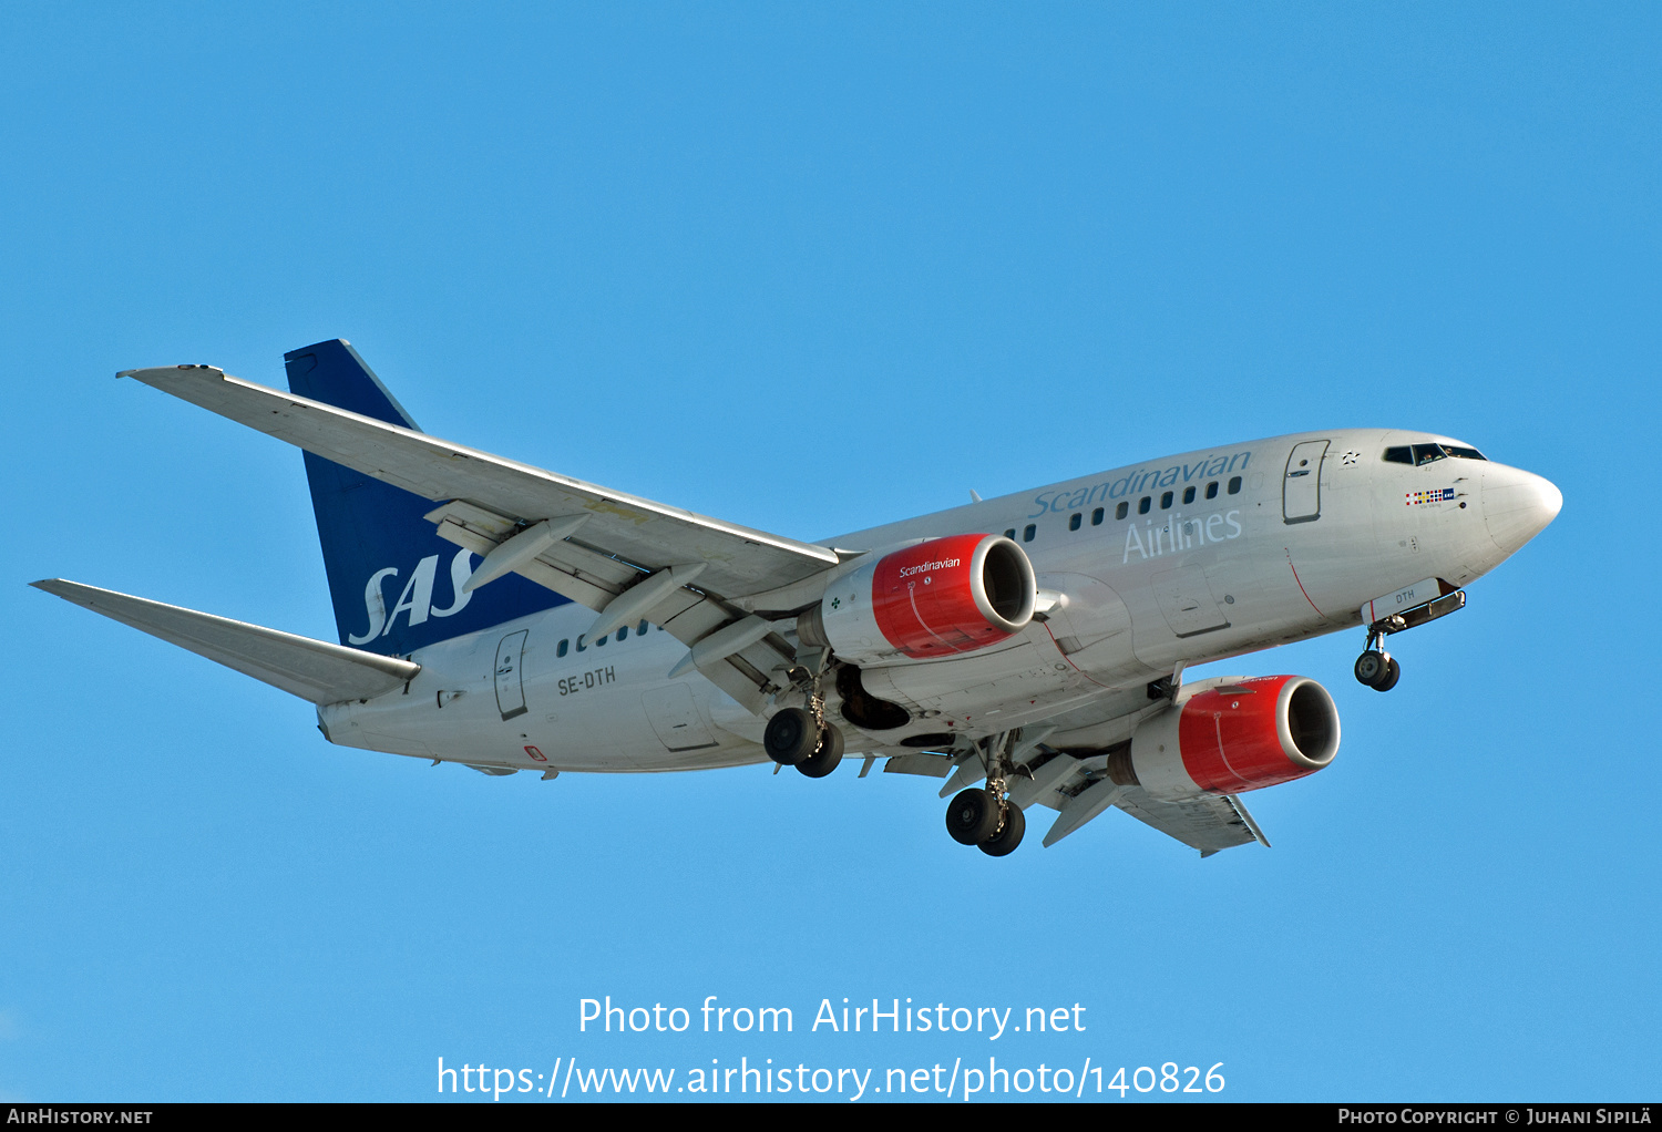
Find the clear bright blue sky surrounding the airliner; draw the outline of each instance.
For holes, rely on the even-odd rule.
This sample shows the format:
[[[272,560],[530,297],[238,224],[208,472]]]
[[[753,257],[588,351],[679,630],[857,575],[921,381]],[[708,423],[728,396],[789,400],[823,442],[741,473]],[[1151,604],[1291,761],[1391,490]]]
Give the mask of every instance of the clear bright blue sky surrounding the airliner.
[[[0,42],[0,1097],[989,1056],[1657,1094],[1655,7],[10,5]],[[1391,695],[1360,633],[1232,663],[1343,716],[1250,798],[1275,849],[1109,815],[991,863],[926,780],[331,748],[25,587],[332,638],[299,455],[111,374],[283,384],[337,336],[430,432],[806,539],[1345,426],[1566,504]],[[796,1032],[580,1034],[607,994]],[[806,1032],[843,997],[1087,1029]]]

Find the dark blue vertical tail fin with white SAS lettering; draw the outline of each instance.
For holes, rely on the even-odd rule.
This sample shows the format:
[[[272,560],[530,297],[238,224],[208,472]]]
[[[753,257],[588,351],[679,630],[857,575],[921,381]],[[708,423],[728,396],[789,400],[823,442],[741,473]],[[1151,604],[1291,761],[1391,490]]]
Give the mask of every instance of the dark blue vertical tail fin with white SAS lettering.
[[[341,339],[293,351],[283,362],[293,394],[420,431]],[[306,479],[342,645],[407,655],[567,602],[517,575],[462,593],[479,555],[445,542],[422,519],[435,502],[311,452]]]

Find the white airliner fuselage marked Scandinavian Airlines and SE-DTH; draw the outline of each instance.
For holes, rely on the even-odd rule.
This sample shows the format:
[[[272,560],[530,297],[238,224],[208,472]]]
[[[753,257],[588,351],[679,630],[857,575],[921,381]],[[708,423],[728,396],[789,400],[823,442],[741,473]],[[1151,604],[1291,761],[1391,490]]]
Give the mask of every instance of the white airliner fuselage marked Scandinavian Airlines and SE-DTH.
[[[1383,455],[1439,440],[1384,429],[1275,437],[828,540],[878,550],[1014,532],[1039,585],[1065,595],[1001,645],[864,665],[866,692],[904,706],[911,723],[874,733],[844,725],[848,748],[904,753],[922,736],[1034,723],[1057,728],[1052,745],[1107,745],[1147,711],[1147,683],[1177,665],[1360,625],[1365,602],[1424,578],[1469,583],[1551,522],[1561,497],[1491,460]],[[432,645],[412,657],[422,670],[406,690],[324,706],[319,721],[344,746],[500,770],[766,761],[765,720],[696,672],[668,678],[686,645],[638,625],[587,642],[593,622],[593,610],[565,603]]]

